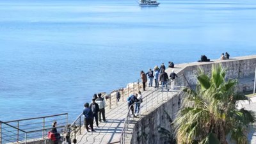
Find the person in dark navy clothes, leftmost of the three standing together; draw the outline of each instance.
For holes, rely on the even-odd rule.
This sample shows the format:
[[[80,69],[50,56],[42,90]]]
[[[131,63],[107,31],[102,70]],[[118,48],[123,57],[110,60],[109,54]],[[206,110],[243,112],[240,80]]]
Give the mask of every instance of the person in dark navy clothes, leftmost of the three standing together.
[[[89,127],[88,125],[90,125],[92,132],[94,131],[93,129],[93,113],[92,113],[92,109],[89,108],[89,103],[86,102],[84,104],[84,127],[86,128],[87,132],[89,132]]]

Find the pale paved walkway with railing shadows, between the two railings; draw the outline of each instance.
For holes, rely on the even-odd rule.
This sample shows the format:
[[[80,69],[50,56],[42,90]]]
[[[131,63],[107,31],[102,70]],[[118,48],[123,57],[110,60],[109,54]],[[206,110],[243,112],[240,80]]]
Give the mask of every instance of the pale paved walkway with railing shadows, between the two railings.
[[[147,87],[145,92],[142,92],[143,97],[148,95],[148,97],[145,97],[143,99],[143,102],[141,103],[141,115],[143,115],[146,110],[149,111],[152,108],[157,108],[161,102],[167,100],[168,98],[172,97],[172,95],[176,92],[167,92],[164,89],[164,92],[161,92],[161,89],[158,90],[158,92],[155,92],[153,94],[153,91],[156,89],[154,87]],[[100,122],[99,128],[95,127],[96,132],[86,132],[83,129],[83,132],[81,135],[77,136],[77,143],[119,143],[120,136],[122,133],[122,129],[124,127],[124,120],[125,116],[127,115],[127,102],[126,98],[124,101],[118,102],[118,106],[112,107],[111,109],[106,109],[106,122]],[[147,109],[146,109],[147,108]],[[131,112],[130,112],[131,113]],[[132,120],[139,120],[140,115],[138,118],[132,118]],[[132,126],[129,127],[129,132],[132,132]]]

